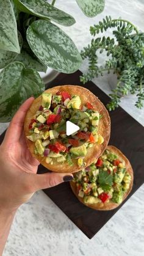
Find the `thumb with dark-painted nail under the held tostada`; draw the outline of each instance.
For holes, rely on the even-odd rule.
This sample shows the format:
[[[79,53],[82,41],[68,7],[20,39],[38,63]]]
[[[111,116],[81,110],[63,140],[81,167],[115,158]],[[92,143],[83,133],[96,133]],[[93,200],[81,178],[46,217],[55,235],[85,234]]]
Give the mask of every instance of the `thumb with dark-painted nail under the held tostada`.
[[[47,172],[46,174],[31,174],[29,176],[29,184],[34,188],[34,192],[59,185],[63,181],[71,180],[73,180],[73,174],[70,173]]]

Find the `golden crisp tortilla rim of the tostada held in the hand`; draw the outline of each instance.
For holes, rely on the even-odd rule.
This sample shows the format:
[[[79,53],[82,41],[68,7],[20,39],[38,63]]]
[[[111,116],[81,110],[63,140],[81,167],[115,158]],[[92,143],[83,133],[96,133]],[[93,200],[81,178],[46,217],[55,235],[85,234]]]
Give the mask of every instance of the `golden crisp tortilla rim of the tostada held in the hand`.
[[[107,147],[107,144],[109,142],[110,137],[110,117],[109,113],[107,112],[106,108],[104,107],[103,103],[101,103],[98,98],[93,95],[92,92],[85,89],[81,86],[56,86],[51,89],[46,90],[46,92],[52,93],[53,95],[57,93],[57,91],[60,92],[68,92],[70,95],[79,95],[81,97],[82,104],[85,104],[88,102],[93,104],[93,107],[99,112],[99,114],[102,114],[103,117],[99,121],[99,129],[98,134],[101,134],[101,136],[104,137],[104,142],[101,145],[94,144],[92,148],[88,148],[87,155],[85,156],[85,162],[86,166],[89,166],[93,163],[93,161],[98,158]],[[31,122],[31,119],[34,118],[35,112],[37,112],[38,108],[41,105],[41,95],[40,97],[36,98],[34,102],[32,103],[30,109],[27,111],[26,118],[24,120],[24,133],[25,136],[29,135],[29,123]],[[32,153],[32,156],[38,159],[40,163],[48,168],[49,170],[52,170],[53,172],[78,172],[82,169],[82,167],[77,166],[77,160],[73,159],[73,166],[69,166],[67,161],[64,163],[57,163],[54,161],[54,164],[47,164],[45,161],[45,157],[41,157],[34,154],[34,147],[35,144],[32,141],[29,141],[29,139],[26,139],[27,146]]]

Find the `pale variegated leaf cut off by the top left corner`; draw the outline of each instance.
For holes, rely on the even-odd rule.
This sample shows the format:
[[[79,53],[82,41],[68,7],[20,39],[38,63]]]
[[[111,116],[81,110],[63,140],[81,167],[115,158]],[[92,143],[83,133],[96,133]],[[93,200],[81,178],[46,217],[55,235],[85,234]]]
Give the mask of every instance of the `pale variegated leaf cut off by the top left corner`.
[[[10,0],[0,0],[0,49],[20,53],[15,13]]]

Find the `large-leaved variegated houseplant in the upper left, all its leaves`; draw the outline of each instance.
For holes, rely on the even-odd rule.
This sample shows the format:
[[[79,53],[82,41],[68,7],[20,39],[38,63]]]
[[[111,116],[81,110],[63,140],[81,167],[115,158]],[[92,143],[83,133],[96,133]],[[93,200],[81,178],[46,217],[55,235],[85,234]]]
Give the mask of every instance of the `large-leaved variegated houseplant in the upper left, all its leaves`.
[[[55,2],[0,0],[0,68],[4,68],[0,71],[0,122],[9,122],[27,97],[45,89],[37,71],[51,67],[73,73],[81,65],[74,42],[52,24],[71,26],[75,20],[54,7]],[[85,13],[92,12],[92,5],[93,15],[99,13],[101,2],[104,7],[104,0],[84,2]]]

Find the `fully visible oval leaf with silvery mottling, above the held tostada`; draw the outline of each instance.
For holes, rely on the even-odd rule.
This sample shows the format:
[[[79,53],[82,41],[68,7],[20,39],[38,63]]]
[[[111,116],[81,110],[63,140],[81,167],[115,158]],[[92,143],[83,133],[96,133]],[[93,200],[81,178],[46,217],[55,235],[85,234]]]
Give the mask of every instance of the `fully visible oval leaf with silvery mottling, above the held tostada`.
[[[45,20],[34,21],[27,29],[27,42],[42,63],[63,73],[73,73],[82,62],[70,37]]]

